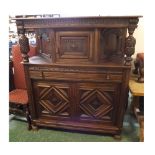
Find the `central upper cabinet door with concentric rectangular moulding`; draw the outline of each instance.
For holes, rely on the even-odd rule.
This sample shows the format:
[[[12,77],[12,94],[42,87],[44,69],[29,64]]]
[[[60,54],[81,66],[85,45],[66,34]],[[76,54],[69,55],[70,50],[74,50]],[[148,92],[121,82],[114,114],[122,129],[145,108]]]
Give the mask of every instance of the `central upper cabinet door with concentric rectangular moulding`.
[[[59,31],[56,33],[57,60],[90,61],[93,58],[93,32]]]

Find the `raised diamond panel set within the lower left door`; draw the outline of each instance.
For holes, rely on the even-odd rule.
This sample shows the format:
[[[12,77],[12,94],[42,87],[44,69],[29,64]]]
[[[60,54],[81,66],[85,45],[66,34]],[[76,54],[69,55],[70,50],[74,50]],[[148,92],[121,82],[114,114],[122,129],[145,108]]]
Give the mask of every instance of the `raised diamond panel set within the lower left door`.
[[[42,106],[44,113],[52,115],[69,115],[69,100],[65,89],[51,87],[42,87],[39,89],[39,104]]]

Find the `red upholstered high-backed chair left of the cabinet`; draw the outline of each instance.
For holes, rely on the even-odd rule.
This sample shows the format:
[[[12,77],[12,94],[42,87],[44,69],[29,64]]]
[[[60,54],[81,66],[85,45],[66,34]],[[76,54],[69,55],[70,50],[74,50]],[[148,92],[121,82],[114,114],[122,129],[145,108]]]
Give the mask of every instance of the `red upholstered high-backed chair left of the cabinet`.
[[[30,47],[30,57],[36,55],[36,47]],[[9,113],[15,115],[25,115],[28,122],[28,130],[31,130],[31,118],[29,111],[29,101],[26,89],[24,67],[22,65],[20,46],[12,47],[12,62],[10,61],[10,82],[13,82],[14,89],[9,89]],[[11,65],[12,63],[12,65]],[[12,76],[13,75],[13,76]],[[12,77],[11,77],[12,76]]]

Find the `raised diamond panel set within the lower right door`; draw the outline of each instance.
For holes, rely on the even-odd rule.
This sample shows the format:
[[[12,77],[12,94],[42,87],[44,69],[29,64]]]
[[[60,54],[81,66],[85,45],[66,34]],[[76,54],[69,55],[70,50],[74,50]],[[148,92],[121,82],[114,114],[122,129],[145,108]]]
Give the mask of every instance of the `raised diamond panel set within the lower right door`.
[[[102,92],[99,89],[81,90],[80,99],[81,116],[103,119],[111,117],[113,111],[112,92]]]

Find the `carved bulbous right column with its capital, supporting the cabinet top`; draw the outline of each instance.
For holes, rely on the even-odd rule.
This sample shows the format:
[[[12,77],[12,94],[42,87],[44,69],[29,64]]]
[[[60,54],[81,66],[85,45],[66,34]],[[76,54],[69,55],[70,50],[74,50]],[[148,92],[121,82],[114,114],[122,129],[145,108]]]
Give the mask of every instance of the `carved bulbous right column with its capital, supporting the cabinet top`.
[[[137,28],[139,19],[134,18],[129,20],[128,25],[128,33],[129,36],[126,38],[126,46],[125,46],[125,65],[131,65],[132,58],[131,56],[135,53],[135,45],[136,45],[136,39],[133,37],[133,33],[135,31],[135,28]]]

